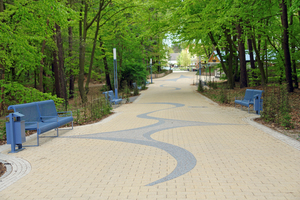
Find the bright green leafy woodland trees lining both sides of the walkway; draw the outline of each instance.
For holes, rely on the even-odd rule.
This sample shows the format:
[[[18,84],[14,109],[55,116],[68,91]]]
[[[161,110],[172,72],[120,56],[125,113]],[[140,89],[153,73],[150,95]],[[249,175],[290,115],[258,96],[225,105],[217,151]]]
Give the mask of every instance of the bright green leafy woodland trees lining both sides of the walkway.
[[[65,101],[78,88],[83,102],[91,79],[103,76],[111,89],[113,48],[120,87],[142,82],[150,58],[154,71],[166,65],[166,38],[173,52],[215,50],[228,88],[286,82],[292,92],[299,34],[298,0],[0,0],[0,110],[20,101],[12,95],[20,85]]]

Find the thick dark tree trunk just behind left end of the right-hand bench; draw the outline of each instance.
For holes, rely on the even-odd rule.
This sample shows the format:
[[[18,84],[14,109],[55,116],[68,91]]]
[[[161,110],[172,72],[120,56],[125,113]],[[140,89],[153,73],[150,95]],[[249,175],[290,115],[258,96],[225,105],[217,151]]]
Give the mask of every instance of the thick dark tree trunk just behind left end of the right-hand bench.
[[[246,69],[246,56],[245,56],[245,44],[244,39],[242,38],[243,29],[240,24],[236,25],[236,29],[238,32],[238,48],[239,48],[239,58],[240,58],[240,88],[247,87],[247,69]]]

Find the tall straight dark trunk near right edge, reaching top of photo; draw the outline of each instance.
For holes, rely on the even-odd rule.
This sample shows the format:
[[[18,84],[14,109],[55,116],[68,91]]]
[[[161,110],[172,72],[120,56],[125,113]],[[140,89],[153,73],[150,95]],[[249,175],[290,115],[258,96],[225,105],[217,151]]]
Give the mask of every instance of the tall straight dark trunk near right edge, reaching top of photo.
[[[282,48],[284,51],[284,58],[285,58],[285,76],[287,82],[287,91],[293,92],[293,79],[292,79],[292,67],[291,67],[291,55],[289,49],[289,33],[288,33],[288,15],[287,15],[287,5],[285,0],[282,0],[281,3],[282,8],[282,15],[281,15],[281,23],[283,27],[283,41],[282,41]]]

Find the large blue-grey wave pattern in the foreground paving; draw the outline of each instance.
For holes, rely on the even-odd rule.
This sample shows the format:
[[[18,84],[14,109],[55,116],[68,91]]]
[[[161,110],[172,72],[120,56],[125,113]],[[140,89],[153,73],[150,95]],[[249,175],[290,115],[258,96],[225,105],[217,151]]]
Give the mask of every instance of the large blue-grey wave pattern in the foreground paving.
[[[143,118],[143,119],[158,120],[157,123],[152,124],[152,125],[134,128],[134,129],[127,129],[127,130],[122,130],[122,131],[104,132],[104,133],[79,135],[79,136],[66,136],[66,137],[67,138],[99,139],[99,140],[127,142],[127,143],[156,147],[163,151],[166,151],[167,153],[169,153],[172,157],[174,157],[176,159],[177,165],[176,165],[175,169],[169,175],[146,185],[146,186],[153,186],[153,185],[156,185],[159,183],[163,183],[163,182],[175,179],[179,176],[182,176],[182,175],[188,173],[196,166],[197,160],[191,152],[189,152],[181,147],[152,139],[151,138],[152,134],[157,133],[159,131],[173,129],[173,128],[179,128],[179,127],[230,125],[230,124],[222,124],[222,123],[195,122],[195,121],[174,120],[174,119],[152,117],[152,116],[149,116],[152,113],[155,113],[158,111],[163,111],[163,110],[168,110],[168,109],[184,107],[185,105],[179,104],[179,103],[166,103],[166,102],[157,102],[157,103],[148,103],[148,104],[167,104],[167,105],[172,105],[173,107],[156,110],[156,111],[151,111],[151,112],[140,114],[137,116],[138,118]]]

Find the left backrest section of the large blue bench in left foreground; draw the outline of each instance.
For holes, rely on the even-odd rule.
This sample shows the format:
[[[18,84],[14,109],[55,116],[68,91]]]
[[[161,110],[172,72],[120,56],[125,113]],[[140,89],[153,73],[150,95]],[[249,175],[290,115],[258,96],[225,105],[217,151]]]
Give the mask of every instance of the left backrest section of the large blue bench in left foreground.
[[[26,122],[39,122],[40,119],[40,112],[35,102],[33,103],[26,103],[26,104],[18,104],[18,105],[11,105],[8,107],[8,110],[14,110],[14,112],[19,112],[24,115],[21,117],[21,120],[25,120]]]

